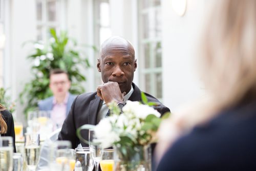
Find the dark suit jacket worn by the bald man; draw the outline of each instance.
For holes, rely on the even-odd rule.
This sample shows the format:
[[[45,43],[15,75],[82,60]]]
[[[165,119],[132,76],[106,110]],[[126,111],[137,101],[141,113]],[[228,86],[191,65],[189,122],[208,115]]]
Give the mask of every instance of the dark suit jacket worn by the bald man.
[[[133,83],[132,84],[134,92],[129,98],[131,101],[141,101],[141,91]],[[155,97],[145,93],[148,101],[159,102]],[[83,124],[97,124],[97,114],[99,111],[99,104],[102,100],[97,96],[96,92],[94,93],[84,93],[76,97],[74,100],[71,110],[68,117],[62,125],[62,129],[58,136],[59,140],[69,140],[72,143],[72,148],[76,148],[80,143],[78,137],[76,136],[76,130]],[[160,102],[159,102],[160,103]],[[164,114],[170,110],[160,103],[157,106],[159,113]],[[88,131],[81,132],[83,138],[88,138]],[[82,146],[88,146],[81,142]]]

